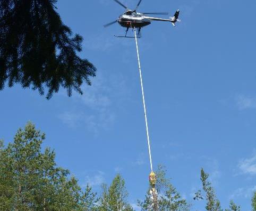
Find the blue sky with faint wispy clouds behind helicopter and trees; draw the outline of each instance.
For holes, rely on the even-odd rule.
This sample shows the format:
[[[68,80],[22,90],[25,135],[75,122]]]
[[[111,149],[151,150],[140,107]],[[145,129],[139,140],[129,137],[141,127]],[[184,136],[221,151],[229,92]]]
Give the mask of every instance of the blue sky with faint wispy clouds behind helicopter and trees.
[[[120,172],[135,204],[150,172],[135,41],[114,38],[124,34],[118,24],[103,27],[123,8],[112,0],[62,0],[57,7],[84,37],[81,57],[97,66],[97,77],[71,98],[65,90],[46,100],[19,85],[5,88],[0,138],[11,141],[32,121],[82,186],[100,190]],[[139,11],[173,15],[177,8],[181,23],[153,22],[139,40],[153,168],[166,166],[192,210],[203,207],[192,200],[203,167],[223,208],[232,198],[249,211],[256,190],[256,2],[144,0]]]

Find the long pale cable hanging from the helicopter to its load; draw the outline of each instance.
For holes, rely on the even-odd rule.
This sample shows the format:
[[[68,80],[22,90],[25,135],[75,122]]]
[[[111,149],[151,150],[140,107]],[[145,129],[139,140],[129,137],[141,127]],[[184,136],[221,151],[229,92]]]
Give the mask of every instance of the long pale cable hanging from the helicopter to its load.
[[[137,34],[136,34],[136,30],[135,30],[135,29],[134,29],[134,36],[135,36],[135,41],[136,41],[136,49],[137,49],[138,64],[139,64],[139,71],[140,71],[140,84],[141,84],[142,99],[143,99],[144,114],[145,114],[145,122],[146,122],[146,131],[147,131],[147,139],[148,139],[149,160],[150,160],[151,171],[153,171],[152,159],[151,159],[151,150],[150,150],[150,141],[149,141],[149,132],[148,132],[147,111],[146,111],[146,105],[145,105],[144,89],[143,89],[143,82],[142,82],[142,75],[141,75],[141,68],[140,68],[140,56],[139,56],[139,49],[138,49]]]

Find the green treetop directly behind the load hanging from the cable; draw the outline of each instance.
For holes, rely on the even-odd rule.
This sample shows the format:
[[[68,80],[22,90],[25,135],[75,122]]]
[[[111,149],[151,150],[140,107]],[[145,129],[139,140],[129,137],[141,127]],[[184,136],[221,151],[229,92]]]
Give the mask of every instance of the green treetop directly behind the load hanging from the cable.
[[[166,169],[159,165],[156,171],[156,190],[158,192],[158,210],[160,211],[187,211],[190,205],[177,192],[176,188],[170,183],[170,179],[166,178]],[[142,211],[153,211],[152,199],[150,198],[150,188],[144,201],[138,201],[138,206]]]

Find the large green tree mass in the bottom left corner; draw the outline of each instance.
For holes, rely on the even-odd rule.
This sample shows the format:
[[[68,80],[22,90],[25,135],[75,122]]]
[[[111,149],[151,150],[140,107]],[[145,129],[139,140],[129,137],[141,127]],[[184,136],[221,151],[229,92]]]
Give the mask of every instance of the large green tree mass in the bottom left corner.
[[[0,210],[95,209],[97,198],[91,188],[82,191],[69,170],[57,167],[54,151],[46,148],[41,152],[44,139],[45,134],[28,123],[18,130],[13,143],[6,148],[0,144]]]

